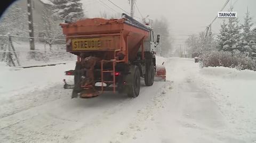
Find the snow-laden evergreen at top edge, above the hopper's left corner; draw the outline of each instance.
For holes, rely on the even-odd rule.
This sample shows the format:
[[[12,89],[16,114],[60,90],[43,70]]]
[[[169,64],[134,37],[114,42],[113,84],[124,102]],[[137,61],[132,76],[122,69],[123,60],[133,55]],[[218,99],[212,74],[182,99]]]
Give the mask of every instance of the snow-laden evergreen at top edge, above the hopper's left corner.
[[[67,21],[84,18],[81,0],[51,0],[55,6],[55,13]]]

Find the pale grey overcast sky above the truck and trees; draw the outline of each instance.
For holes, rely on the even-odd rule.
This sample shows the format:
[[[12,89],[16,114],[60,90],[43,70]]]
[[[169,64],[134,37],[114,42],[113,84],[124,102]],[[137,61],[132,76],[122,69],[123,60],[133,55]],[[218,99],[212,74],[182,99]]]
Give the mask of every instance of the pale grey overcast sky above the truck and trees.
[[[111,1],[125,11],[130,12],[128,0]],[[109,14],[116,12],[123,13],[122,10],[108,2],[108,0],[82,0],[82,2],[84,10],[86,11],[85,14],[89,16],[89,18],[99,16],[100,12],[107,12]],[[177,46],[178,44],[184,45],[187,34],[204,31],[225,2],[226,0],[137,0],[137,5],[143,16],[150,15],[150,19],[153,20],[164,16],[169,20],[170,33],[174,39],[173,46]],[[248,6],[254,18],[254,27],[256,27],[256,0],[232,0],[232,3],[235,3],[234,11],[238,13],[240,22],[243,22],[243,17]],[[114,10],[111,10],[108,6]],[[230,9],[230,3],[226,6],[224,11],[228,9]],[[137,9],[135,15],[141,18]],[[221,19],[217,19],[213,23],[213,33],[219,32],[221,21]]]

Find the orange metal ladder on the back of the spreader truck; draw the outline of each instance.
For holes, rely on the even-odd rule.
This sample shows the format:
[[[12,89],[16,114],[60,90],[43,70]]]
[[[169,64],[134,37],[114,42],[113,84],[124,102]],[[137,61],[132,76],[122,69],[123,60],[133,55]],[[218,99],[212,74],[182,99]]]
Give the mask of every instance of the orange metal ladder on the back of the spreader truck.
[[[112,63],[113,69],[112,70],[104,70],[104,63]],[[115,76],[115,65],[116,60],[102,60],[101,61],[101,91],[104,91],[104,83],[113,83],[113,91],[116,92],[116,76]],[[104,73],[113,73],[113,81],[105,81],[104,80]]]

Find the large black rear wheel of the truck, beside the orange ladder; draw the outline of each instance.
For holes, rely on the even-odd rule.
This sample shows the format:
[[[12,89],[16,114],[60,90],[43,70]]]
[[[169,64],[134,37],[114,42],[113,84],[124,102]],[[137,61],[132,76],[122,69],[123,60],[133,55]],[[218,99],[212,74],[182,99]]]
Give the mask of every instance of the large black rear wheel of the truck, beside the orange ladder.
[[[140,94],[140,70],[138,66],[134,66],[131,70],[131,74],[127,75],[130,79],[130,85],[127,87],[127,95],[129,97],[138,97]]]

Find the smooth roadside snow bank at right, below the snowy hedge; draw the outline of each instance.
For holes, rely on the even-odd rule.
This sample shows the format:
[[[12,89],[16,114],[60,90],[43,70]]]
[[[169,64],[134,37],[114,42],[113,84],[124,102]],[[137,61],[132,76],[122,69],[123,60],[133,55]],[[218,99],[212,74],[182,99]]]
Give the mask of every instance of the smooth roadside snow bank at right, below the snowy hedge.
[[[250,139],[256,130],[256,72],[224,67],[199,70],[205,89],[227,118],[235,134]],[[249,140],[251,142],[251,140]]]

